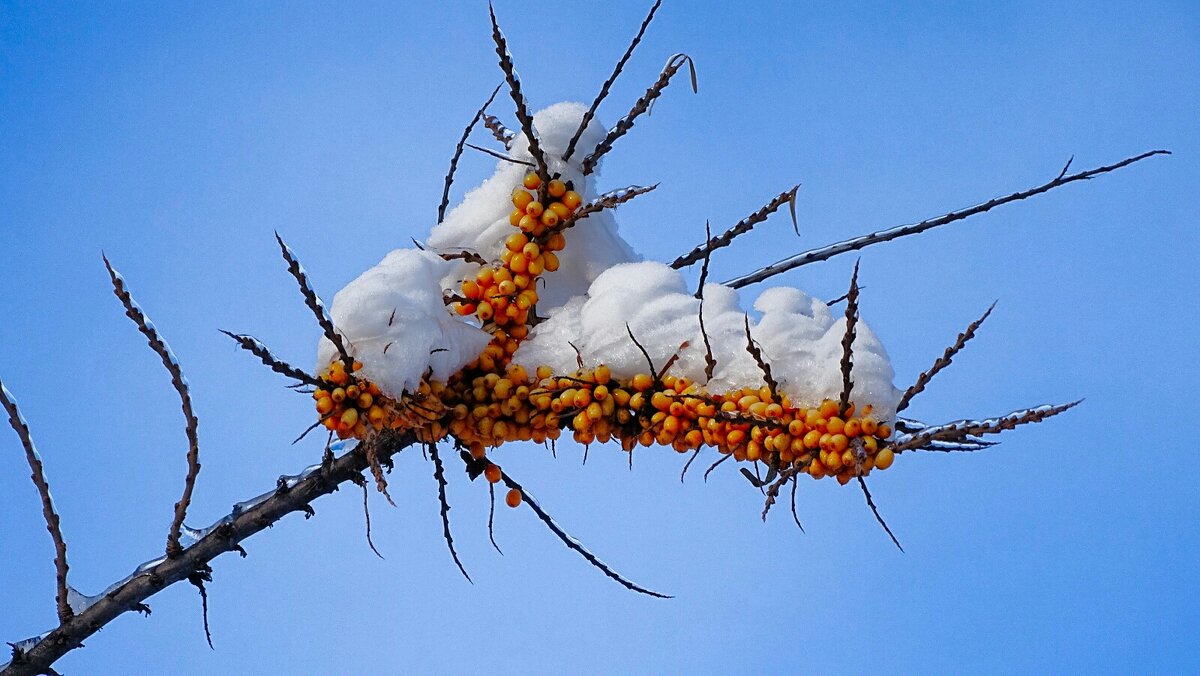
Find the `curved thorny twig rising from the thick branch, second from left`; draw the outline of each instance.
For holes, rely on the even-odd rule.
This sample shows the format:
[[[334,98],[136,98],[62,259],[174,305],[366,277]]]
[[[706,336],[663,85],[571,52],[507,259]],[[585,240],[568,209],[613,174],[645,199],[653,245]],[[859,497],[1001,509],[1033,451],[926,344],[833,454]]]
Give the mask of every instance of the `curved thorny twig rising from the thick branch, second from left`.
[[[192,395],[187,388],[187,378],[184,377],[184,370],[179,365],[175,353],[170,351],[170,346],[158,334],[154,322],[146,317],[142,307],[133,300],[133,295],[125,285],[125,279],[108,262],[107,256],[101,255],[101,257],[104,259],[104,268],[108,269],[108,276],[113,281],[113,293],[125,307],[125,315],[133,321],[138,330],[142,331],[142,335],[145,336],[146,342],[150,343],[150,348],[162,359],[162,365],[170,373],[170,384],[179,393],[179,400],[184,409],[184,419],[186,421],[185,432],[187,433],[187,475],[184,479],[184,495],[175,503],[175,515],[170,521],[170,530],[167,533],[167,556],[179,556],[179,552],[182,551],[179,544],[179,533],[184,527],[184,519],[187,516],[187,507],[192,503],[196,479],[200,474],[200,441],[197,436],[199,421],[196,419],[196,412],[192,409]]]

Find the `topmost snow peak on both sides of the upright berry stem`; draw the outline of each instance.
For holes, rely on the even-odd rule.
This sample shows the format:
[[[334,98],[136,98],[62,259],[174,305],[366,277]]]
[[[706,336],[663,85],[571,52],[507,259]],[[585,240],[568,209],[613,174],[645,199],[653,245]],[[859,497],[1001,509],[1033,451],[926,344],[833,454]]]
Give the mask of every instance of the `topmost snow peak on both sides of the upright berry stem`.
[[[596,173],[584,177],[580,163],[587,152],[604,139],[607,133],[605,127],[593,119],[580,138],[575,154],[568,162],[562,161],[566,144],[578,128],[586,110],[587,107],[580,103],[556,103],[534,114],[533,120],[551,175],[557,173],[562,180],[572,181],[575,190],[583,196],[584,202],[588,202],[598,195]],[[533,161],[523,133],[512,139],[509,155],[515,160]],[[515,232],[509,223],[509,214],[512,211],[512,189],[521,185],[521,179],[528,172],[529,167],[524,164],[498,161],[496,174],[468,192],[462,203],[433,228],[428,245],[437,251],[467,250],[490,261],[499,259],[505,238]],[[542,313],[584,294],[592,281],[608,268],[641,259],[618,234],[611,210],[581,220],[564,234],[566,249],[558,255],[562,267],[556,273],[545,273],[542,275],[545,286],[538,289],[538,309]],[[473,277],[476,271],[479,271],[476,264],[456,262],[442,280],[443,287],[457,288],[462,280]]]

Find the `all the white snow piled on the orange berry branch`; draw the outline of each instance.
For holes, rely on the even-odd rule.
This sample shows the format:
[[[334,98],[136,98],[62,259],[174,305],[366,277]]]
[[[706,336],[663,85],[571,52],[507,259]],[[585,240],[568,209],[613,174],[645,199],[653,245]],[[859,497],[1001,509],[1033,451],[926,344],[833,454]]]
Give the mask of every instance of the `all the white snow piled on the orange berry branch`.
[[[587,202],[598,192],[595,175],[583,177],[580,164],[604,138],[604,126],[593,120],[571,160],[560,158],[584,110],[578,103],[557,103],[536,113],[534,125],[551,173],[574,181]],[[532,160],[523,134],[514,138],[510,156]],[[509,225],[512,189],[528,171],[498,161],[496,173],[433,228],[427,240],[431,250],[467,250],[498,261],[504,240],[516,232]],[[641,261],[620,238],[612,210],[568,229],[559,259],[560,269],[545,273],[545,283],[538,287],[538,312],[548,319],[530,331],[515,355],[516,363],[530,371],[545,364],[570,373],[582,359],[586,366],[607,364],[618,377],[646,372],[649,366],[630,340],[628,324],[655,367],[661,369],[678,353],[672,372],[706,382],[700,300],[679,271]],[[338,293],[331,315],[365,364],[366,377],[396,396],[414,388],[430,370],[434,378],[444,379],[474,359],[486,346],[487,334],[474,319],[451,315],[442,295],[457,293],[462,280],[474,277],[479,269],[478,264],[445,262],[430,252],[397,250]],[[706,285],[703,307],[716,359],[707,389],[721,393],[762,385],[763,375],[746,349],[746,311],[738,292]],[[822,399],[838,399],[844,313],[793,288],[766,289],[754,307],[761,317],[750,318],[751,335],[793,403],[812,406]],[[396,318],[389,325],[392,310]],[[900,397],[892,384],[890,361],[866,323],[858,322],[857,334],[852,399],[871,403],[877,418],[888,419]],[[388,345],[391,347],[384,354]],[[437,348],[445,352],[434,352]],[[323,340],[319,366],[334,358],[332,346]]]

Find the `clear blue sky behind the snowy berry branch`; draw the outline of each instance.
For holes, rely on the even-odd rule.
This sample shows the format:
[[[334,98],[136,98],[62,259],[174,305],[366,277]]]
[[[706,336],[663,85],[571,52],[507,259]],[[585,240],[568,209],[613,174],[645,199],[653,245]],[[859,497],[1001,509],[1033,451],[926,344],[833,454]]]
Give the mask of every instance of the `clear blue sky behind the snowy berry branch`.
[[[53,481],[71,579],[96,592],[162,548],[184,474],[166,373],[122,316],[106,251],[191,378],[204,471],[192,522],[318,457],[288,445],[310,402],[217,329],[307,365],[318,331],[278,229],[331,298],[436,215],[463,125],[499,82],[482,1],[169,5],[0,1],[0,373]],[[498,0],[535,108],[590,101],[648,0]],[[910,409],[929,421],[1087,401],[976,455],[904,456],[862,495],[802,484],[808,534],[733,471],[564,444],[500,457],[630,593],[527,510],[451,473],[467,584],[420,454],[372,496],[317,503],[222,557],[216,651],[194,590],[150,600],[64,659],[68,674],[1183,672],[1200,670],[1195,331],[1200,12],[1193,2],[1006,6],[667,0],[601,114],[666,58],[696,59],[608,156],[604,184],[662,181],[619,211],[673,257],[803,183],[802,237],[772,220],[715,279],[785,253],[1169,148],[942,232],[868,250],[863,313],[906,385],[996,313]],[[494,110],[511,120],[499,98]],[[485,134],[479,139],[487,142]],[[468,155],[455,196],[493,161]],[[842,293],[852,257],[791,273]],[[722,469],[728,469],[728,466]],[[0,435],[0,639],[54,622],[53,550],[14,437]]]

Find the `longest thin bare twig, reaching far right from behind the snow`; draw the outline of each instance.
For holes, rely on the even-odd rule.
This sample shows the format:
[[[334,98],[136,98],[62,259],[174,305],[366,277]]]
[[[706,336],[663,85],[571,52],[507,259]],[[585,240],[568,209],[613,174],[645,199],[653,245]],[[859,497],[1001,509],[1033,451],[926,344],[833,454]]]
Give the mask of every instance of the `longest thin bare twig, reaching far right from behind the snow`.
[[[1042,184],[1037,187],[1031,187],[1021,192],[1014,192],[1004,197],[996,197],[989,199],[988,202],[983,202],[973,207],[968,207],[966,209],[950,211],[949,214],[937,216],[936,219],[929,219],[919,223],[896,226],[883,231],[876,231],[874,233],[868,233],[860,237],[851,238],[844,241],[839,241],[836,244],[830,244],[829,246],[822,246],[821,249],[812,249],[802,253],[797,253],[796,256],[791,256],[788,258],[784,258],[782,261],[772,263],[770,265],[767,265],[764,268],[760,268],[754,273],[749,273],[739,277],[733,277],[732,280],[726,281],[725,285],[733,288],[742,288],[745,286],[750,286],[752,283],[769,280],[770,277],[774,277],[775,275],[780,275],[788,270],[794,270],[796,268],[799,268],[802,265],[808,265],[810,263],[817,263],[821,261],[828,261],[829,258],[833,258],[839,253],[857,251],[859,249],[864,249],[874,244],[881,244],[884,241],[890,241],[893,239],[899,239],[901,237],[907,237],[912,234],[919,234],[928,229],[953,223],[955,221],[961,221],[964,219],[974,216],[977,214],[984,214],[986,211],[991,211],[996,207],[1003,204],[1008,204],[1012,202],[1020,202],[1022,199],[1028,199],[1030,197],[1036,197],[1038,195],[1042,195],[1043,192],[1049,192],[1056,187],[1067,185],[1069,183],[1088,180],[1100,174],[1115,172],[1122,167],[1127,167],[1129,164],[1133,164],[1134,162],[1140,162],[1147,157],[1153,157],[1156,155],[1170,155],[1170,154],[1171,154],[1170,150],[1150,150],[1147,152],[1142,152],[1141,155],[1134,155],[1133,157],[1127,157],[1114,164],[1106,164],[1103,167],[1097,167],[1094,169],[1087,169],[1086,172],[1079,172],[1078,174],[1064,175],[1063,173],[1060,173],[1054,180]],[[1070,163],[1068,162],[1067,166],[1069,167]]]

